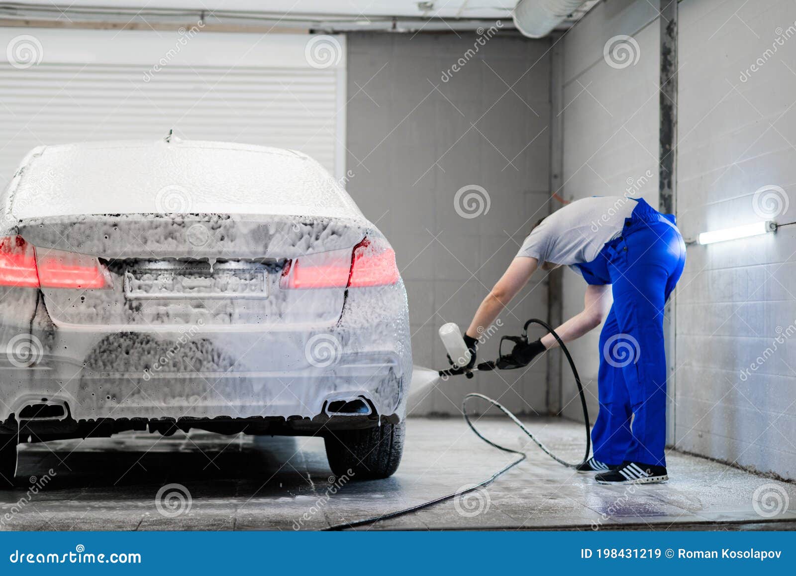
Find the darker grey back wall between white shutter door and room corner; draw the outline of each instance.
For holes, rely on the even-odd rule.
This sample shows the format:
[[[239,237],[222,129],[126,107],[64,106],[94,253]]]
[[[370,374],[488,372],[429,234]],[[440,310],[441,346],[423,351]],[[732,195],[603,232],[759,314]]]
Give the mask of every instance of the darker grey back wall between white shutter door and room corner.
[[[507,36],[498,33],[470,57],[472,33],[348,38],[346,188],[396,249],[419,365],[447,366],[437,330],[449,321],[466,327],[529,225],[547,214],[550,41]],[[452,71],[460,58],[465,64]],[[455,207],[469,185],[489,195],[489,211],[478,217]],[[519,333],[531,315],[547,315],[539,280],[501,316],[500,333]],[[497,338],[481,350],[482,358],[497,356]],[[463,395],[481,391],[509,409],[544,412],[544,380],[544,362],[527,374],[455,378],[410,409],[458,414]]]

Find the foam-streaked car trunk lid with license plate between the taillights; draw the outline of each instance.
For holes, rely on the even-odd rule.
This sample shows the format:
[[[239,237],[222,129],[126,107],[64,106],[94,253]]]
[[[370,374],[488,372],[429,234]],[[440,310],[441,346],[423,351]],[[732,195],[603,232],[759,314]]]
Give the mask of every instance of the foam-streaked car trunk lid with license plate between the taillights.
[[[283,276],[299,257],[339,264],[367,230],[332,217],[102,214],[28,218],[18,233],[36,247],[40,268],[63,251],[96,257],[107,269],[106,288],[42,286],[57,324],[279,330],[337,322],[345,284],[290,290]]]

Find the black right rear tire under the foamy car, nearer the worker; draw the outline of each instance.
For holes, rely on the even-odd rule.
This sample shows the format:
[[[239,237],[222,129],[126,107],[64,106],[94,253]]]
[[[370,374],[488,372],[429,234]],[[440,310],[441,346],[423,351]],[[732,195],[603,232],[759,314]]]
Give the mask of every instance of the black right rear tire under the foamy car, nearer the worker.
[[[377,480],[392,476],[404,453],[405,422],[361,430],[336,430],[326,438],[326,458],[336,476]]]

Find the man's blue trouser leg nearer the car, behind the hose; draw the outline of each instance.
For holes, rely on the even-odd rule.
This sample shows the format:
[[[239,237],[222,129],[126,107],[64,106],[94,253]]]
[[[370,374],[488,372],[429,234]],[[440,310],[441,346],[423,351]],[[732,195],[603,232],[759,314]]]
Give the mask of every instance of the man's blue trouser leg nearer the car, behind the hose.
[[[603,324],[599,336],[600,362],[597,376],[599,412],[591,429],[595,460],[612,466],[622,464],[630,446],[630,398],[627,395],[622,368],[607,361],[602,351],[611,346],[620,333],[614,308]]]

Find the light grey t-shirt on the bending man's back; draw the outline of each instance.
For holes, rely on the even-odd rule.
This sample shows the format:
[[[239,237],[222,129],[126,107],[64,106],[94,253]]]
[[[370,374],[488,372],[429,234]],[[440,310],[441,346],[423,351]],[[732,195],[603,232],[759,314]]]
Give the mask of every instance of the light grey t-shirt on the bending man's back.
[[[626,196],[576,200],[544,218],[525,238],[517,257],[567,266],[591,262],[607,241],[622,233],[625,218],[636,206],[634,198]]]

